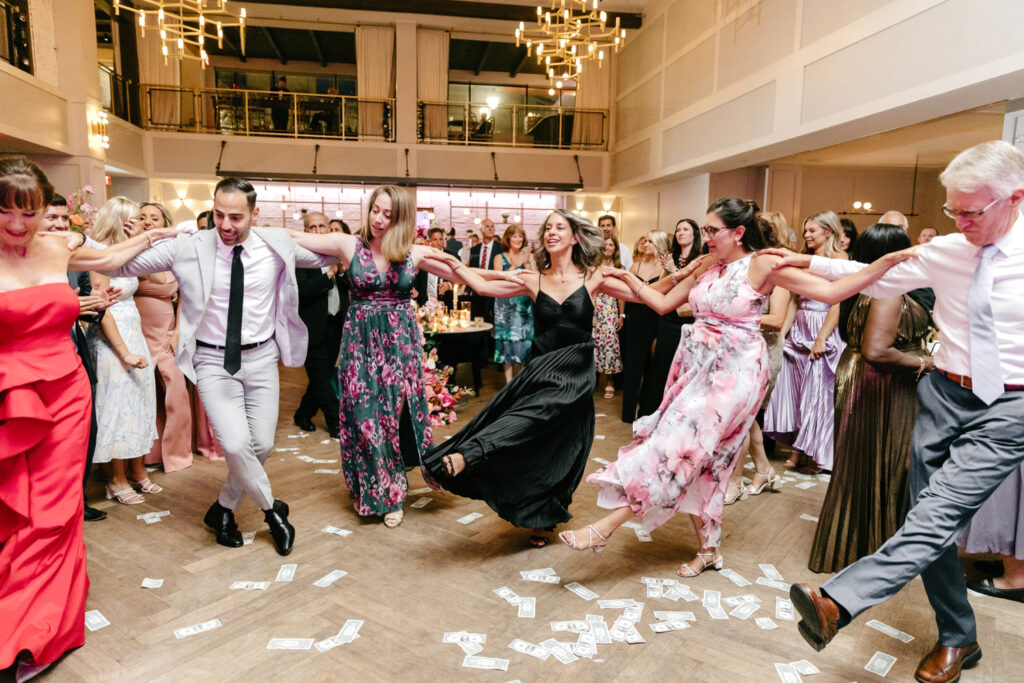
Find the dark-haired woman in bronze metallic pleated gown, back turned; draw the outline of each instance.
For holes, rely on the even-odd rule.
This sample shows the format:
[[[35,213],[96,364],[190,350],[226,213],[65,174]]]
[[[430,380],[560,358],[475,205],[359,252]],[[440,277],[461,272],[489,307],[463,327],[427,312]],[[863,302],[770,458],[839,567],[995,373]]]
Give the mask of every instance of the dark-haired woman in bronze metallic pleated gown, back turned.
[[[870,263],[909,246],[905,230],[880,223],[857,240],[853,259]],[[814,571],[870,555],[903,524],[918,378],[935,367],[925,349],[933,301],[915,300],[921,292],[860,294],[841,305],[848,345],[836,370],[836,466],[811,546]]]

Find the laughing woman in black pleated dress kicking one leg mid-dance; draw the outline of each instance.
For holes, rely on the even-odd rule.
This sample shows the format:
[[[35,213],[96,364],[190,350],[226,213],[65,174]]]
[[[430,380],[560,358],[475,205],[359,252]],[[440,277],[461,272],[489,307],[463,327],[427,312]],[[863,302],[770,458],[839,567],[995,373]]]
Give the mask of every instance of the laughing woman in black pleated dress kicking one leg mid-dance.
[[[571,518],[594,440],[593,296],[636,300],[621,281],[594,270],[602,244],[590,221],[556,210],[542,228],[540,273],[480,271],[434,255],[475,292],[534,299],[534,346],[522,372],[423,463],[445,489],[530,529],[535,547]]]

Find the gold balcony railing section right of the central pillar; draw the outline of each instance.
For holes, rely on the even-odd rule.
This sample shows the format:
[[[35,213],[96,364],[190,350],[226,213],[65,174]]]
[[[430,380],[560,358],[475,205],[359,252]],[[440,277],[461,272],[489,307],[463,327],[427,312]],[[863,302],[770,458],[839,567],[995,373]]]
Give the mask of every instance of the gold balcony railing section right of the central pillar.
[[[417,125],[428,143],[606,150],[607,122],[604,110],[420,100]]]

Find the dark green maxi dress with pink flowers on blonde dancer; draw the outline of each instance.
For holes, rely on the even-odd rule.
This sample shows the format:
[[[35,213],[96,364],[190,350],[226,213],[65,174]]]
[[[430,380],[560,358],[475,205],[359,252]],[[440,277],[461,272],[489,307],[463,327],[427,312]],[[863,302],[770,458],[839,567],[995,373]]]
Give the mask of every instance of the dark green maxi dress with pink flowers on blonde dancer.
[[[423,332],[410,303],[415,273],[409,254],[382,276],[370,248],[361,240],[356,244],[338,377],[341,468],[360,515],[401,509],[409,492],[404,464],[420,464],[433,443]]]

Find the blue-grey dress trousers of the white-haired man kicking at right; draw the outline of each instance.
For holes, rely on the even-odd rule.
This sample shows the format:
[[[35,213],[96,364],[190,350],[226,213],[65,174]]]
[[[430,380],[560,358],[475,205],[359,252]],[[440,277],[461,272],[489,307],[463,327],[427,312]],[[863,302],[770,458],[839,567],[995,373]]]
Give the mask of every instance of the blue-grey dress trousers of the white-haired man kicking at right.
[[[856,616],[921,574],[939,644],[965,647],[977,640],[977,628],[956,539],[1024,460],[1024,391],[1008,391],[985,405],[970,389],[931,373],[918,385],[918,399],[906,521],[878,552],[821,588]]]

